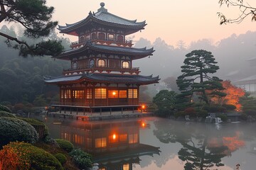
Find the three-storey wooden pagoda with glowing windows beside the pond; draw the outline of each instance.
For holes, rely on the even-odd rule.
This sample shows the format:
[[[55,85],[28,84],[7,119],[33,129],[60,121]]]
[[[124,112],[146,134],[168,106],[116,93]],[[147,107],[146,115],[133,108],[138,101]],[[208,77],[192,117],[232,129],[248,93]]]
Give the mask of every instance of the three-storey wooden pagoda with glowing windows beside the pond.
[[[159,77],[139,75],[132,61],[154,52],[153,48],[132,47],[132,40],[125,36],[143,30],[146,22],[130,21],[109,13],[101,3],[96,13],[66,26],[59,26],[60,33],[75,35],[70,50],[54,57],[69,60],[70,69],[64,69],[60,77],[45,77],[46,84],[60,88],[60,101],[53,106],[61,111],[102,108],[136,108],[139,101],[139,86],[156,84]]]

